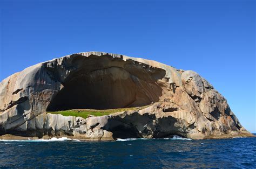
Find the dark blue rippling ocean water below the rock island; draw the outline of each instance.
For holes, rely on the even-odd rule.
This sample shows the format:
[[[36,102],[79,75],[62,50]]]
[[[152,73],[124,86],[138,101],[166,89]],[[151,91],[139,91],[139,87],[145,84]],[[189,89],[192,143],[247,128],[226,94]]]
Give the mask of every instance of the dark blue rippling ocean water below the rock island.
[[[0,167],[256,168],[256,138],[0,141]]]

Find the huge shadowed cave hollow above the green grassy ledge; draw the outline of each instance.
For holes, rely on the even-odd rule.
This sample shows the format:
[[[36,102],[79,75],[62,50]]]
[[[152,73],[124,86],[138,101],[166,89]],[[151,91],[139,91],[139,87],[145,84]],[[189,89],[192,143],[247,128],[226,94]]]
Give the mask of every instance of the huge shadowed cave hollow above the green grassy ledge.
[[[158,82],[165,75],[162,69],[149,72],[145,65],[107,57],[72,64],[78,65],[76,70],[65,78],[47,111],[140,107],[159,101],[163,93]]]

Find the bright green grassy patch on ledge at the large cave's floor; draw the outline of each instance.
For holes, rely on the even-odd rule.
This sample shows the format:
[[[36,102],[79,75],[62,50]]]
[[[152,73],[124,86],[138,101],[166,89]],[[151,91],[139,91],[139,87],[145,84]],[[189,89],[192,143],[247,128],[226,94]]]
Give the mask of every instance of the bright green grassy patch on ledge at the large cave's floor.
[[[73,109],[73,110],[62,110],[62,111],[49,111],[47,113],[50,114],[60,114],[63,116],[75,116],[75,117],[82,117],[87,118],[89,115],[93,116],[104,116],[110,115],[115,112],[120,111],[129,111],[129,110],[140,110],[149,107],[149,105],[145,105],[143,107],[133,107],[133,108],[119,108],[119,109],[106,109],[106,110],[94,110],[94,109]]]

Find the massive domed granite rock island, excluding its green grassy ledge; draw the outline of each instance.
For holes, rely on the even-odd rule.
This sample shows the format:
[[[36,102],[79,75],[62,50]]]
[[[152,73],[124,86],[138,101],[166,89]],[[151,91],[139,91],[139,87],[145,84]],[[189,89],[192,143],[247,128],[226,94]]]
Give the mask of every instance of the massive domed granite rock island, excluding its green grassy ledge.
[[[0,83],[0,135],[83,140],[252,136],[199,74],[156,61],[86,52],[46,61]],[[149,107],[109,116],[46,111]]]

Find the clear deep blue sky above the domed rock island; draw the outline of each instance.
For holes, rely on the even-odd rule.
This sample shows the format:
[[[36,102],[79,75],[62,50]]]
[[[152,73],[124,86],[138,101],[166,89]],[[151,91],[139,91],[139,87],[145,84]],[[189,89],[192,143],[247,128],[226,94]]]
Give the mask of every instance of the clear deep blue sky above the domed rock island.
[[[151,59],[198,72],[256,132],[255,2],[0,0],[0,81],[77,52]]]

